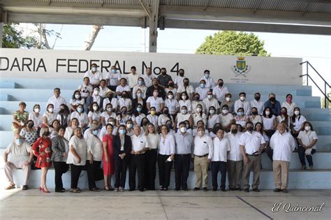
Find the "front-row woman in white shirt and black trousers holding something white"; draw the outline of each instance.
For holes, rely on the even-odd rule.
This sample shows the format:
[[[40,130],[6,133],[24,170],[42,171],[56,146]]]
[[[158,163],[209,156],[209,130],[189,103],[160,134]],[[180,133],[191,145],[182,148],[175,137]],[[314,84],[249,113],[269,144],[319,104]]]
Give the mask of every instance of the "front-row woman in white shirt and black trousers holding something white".
[[[168,190],[173,159],[175,158],[175,138],[168,133],[168,127],[161,126],[158,156],[160,190]]]

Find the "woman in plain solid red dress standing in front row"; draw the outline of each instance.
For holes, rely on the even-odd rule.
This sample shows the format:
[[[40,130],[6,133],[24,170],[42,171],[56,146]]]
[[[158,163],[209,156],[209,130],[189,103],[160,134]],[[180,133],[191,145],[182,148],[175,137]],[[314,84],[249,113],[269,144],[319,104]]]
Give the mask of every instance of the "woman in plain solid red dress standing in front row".
[[[106,125],[107,134],[103,135],[103,177],[105,186],[103,189],[111,191],[111,179],[114,174],[114,160],[112,159],[112,130],[114,129],[112,124]]]

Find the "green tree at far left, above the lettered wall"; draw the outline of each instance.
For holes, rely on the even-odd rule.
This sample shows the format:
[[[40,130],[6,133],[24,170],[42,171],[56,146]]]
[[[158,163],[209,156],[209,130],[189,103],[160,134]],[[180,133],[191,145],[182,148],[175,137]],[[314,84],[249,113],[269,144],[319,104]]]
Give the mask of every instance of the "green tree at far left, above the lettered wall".
[[[23,31],[18,29],[18,24],[3,24],[3,48],[35,48],[38,39],[34,36],[23,36]]]

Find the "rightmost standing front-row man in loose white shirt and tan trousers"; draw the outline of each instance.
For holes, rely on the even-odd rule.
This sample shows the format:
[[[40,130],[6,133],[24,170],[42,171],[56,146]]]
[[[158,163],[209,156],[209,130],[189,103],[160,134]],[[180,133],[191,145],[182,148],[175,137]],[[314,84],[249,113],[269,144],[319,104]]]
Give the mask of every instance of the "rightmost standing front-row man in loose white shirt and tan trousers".
[[[274,169],[274,192],[287,193],[290,154],[295,149],[293,136],[286,131],[286,124],[279,123],[277,133],[270,138],[270,147],[274,150],[272,168]]]

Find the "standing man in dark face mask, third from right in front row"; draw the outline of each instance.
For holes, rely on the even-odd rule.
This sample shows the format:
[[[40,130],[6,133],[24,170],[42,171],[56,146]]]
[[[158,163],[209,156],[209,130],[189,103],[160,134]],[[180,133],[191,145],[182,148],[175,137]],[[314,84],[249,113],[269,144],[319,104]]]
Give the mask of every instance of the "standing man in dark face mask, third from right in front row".
[[[242,182],[242,154],[240,154],[240,135],[237,124],[231,124],[230,132],[225,135],[230,142],[230,152],[226,163],[228,169],[229,190],[241,191],[240,183]]]

